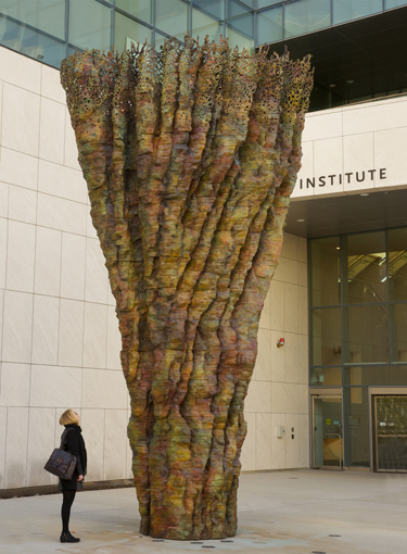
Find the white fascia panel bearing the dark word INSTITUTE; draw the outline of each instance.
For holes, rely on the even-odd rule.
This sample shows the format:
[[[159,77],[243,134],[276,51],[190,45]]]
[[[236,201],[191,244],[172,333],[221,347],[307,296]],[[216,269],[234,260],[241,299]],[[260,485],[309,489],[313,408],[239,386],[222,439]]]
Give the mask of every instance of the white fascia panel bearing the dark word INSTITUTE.
[[[303,134],[303,167],[293,199],[404,188],[406,143],[407,96],[309,113]],[[319,181],[321,176],[326,177],[325,186]],[[315,188],[307,188],[307,178],[315,178]]]

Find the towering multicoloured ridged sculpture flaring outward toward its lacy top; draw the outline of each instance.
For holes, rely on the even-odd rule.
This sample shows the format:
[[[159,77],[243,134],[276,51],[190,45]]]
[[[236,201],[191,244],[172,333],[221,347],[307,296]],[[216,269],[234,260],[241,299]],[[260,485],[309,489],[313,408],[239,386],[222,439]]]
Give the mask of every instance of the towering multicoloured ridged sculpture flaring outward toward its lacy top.
[[[244,398],[301,166],[309,59],[189,37],[61,68],[131,399],[141,532],[237,531]]]

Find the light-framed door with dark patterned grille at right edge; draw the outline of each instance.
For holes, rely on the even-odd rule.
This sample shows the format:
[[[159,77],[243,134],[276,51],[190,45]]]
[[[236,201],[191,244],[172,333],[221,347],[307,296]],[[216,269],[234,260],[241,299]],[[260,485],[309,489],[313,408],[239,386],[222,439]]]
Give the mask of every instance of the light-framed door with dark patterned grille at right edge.
[[[374,396],[376,470],[407,471],[407,395]]]

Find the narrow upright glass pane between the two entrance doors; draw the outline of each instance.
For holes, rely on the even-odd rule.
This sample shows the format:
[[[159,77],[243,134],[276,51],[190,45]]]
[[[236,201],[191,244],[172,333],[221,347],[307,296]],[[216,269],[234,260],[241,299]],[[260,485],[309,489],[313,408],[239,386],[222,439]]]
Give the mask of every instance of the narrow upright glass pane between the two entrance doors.
[[[369,466],[368,389],[344,387],[345,466]]]

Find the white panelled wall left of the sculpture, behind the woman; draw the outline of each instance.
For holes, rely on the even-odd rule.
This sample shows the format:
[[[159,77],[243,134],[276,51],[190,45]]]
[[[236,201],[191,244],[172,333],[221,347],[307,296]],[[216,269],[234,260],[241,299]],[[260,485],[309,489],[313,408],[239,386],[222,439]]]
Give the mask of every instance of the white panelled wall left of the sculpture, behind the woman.
[[[0,48],[0,488],[42,469],[67,407],[88,480],[131,476],[114,299],[59,72]]]

